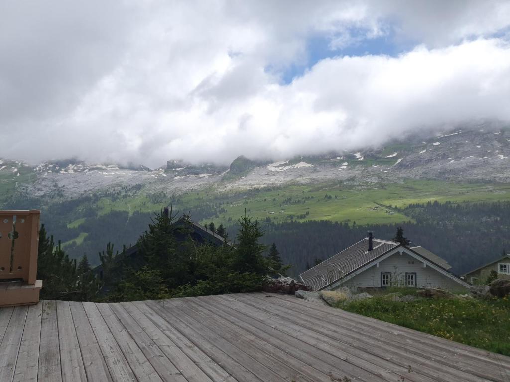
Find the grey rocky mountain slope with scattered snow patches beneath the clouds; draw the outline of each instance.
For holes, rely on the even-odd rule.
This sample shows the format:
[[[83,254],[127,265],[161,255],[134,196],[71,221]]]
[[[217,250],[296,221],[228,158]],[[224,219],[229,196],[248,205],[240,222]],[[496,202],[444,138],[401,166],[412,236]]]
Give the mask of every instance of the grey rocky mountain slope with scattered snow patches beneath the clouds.
[[[510,182],[510,130],[456,130],[377,149],[275,162],[239,156],[230,167],[169,160],[165,169],[151,170],[143,165],[125,168],[75,159],[29,166],[0,159],[0,186],[11,184],[9,189],[31,197],[49,196],[58,190],[64,198],[72,198],[114,185],[143,184],[156,191],[179,194],[210,186],[229,190],[290,181],[398,182],[403,178]]]

